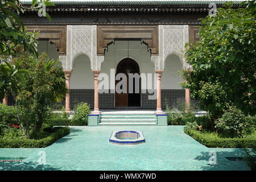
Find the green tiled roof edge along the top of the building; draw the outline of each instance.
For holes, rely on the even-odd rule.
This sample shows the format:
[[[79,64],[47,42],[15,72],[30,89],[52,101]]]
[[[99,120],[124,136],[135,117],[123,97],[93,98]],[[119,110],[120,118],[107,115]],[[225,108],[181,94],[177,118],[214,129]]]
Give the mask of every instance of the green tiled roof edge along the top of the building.
[[[22,1],[24,5],[31,5],[32,1]],[[224,5],[230,1],[51,1],[55,5],[65,6],[207,6],[209,3]],[[232,1],[239,5],[242,1]]]

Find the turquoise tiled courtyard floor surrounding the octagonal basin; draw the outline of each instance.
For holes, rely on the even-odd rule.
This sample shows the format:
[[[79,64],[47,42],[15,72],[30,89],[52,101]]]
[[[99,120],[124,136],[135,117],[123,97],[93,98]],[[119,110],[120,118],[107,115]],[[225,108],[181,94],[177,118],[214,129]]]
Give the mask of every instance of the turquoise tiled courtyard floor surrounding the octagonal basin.
[[[23,162],[0,162],[0,170],[249,170],[242,148],[207,148],[184,134],[184,126],[73,126],[71,133],[46,148],[0,148],[1,157],[24,157]],[[142,131],[146,143],[109,143],[112,131]],[[39,164],[39,152],[46,164]],[[209,164],[215,151],[217,164]]]

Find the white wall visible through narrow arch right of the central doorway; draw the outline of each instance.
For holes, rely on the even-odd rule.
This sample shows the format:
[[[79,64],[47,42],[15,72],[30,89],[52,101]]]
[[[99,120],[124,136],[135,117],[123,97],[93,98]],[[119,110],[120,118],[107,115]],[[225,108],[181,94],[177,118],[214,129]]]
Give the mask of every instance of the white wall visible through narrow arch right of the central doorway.
[[[182,64],[179,57],[170,55],[166,58],[165,67],[162,75],[161,89],[182,89],[179,82],[183,81],[180,74]]]

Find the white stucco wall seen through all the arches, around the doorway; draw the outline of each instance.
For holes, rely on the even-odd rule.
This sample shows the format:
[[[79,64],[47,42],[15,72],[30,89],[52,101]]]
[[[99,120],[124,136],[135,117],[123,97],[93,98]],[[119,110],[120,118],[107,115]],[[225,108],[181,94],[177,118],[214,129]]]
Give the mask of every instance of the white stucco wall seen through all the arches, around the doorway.
[[[108,52],[105,52],[105,60],[101,64],[101,73],[109,75],[109,82],[110,69],[116,71],[119,61],[127,57],[127,47],[127,41],[118,40],[115,41],[115,44],[109,46]],[[55,45],[50,44],[47,40],[39,41],[38,52],[39,54],[46,52],[52,59],[59,59],[59,52],[57,52]],[[154,76],[155,68],[154,63],[151,62],[150,52],[147,51],[146,45],[141,44],[141,41],[129,41],[129,57],[137,61],[140,73],[152,73]],[[182,64],[179,57],[170,55],[166,58],[162,76],[162,89],[181,89],[179,82],[183,79],[177,73],[177,71],[181,71],[181,68]],[[94,89],[93,73],[88,56],[77,56],[72,70],[71,89]]]

